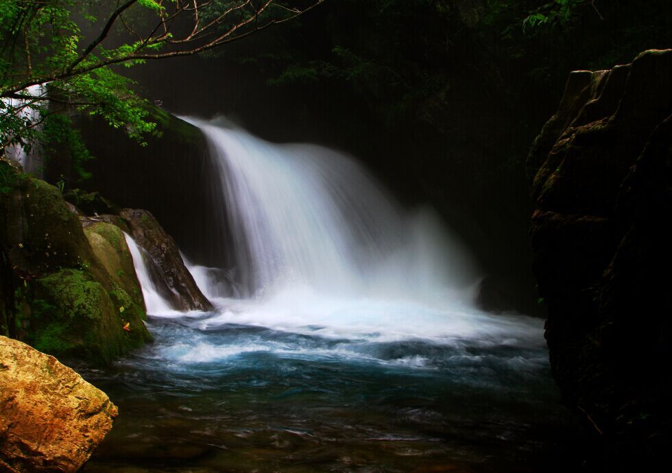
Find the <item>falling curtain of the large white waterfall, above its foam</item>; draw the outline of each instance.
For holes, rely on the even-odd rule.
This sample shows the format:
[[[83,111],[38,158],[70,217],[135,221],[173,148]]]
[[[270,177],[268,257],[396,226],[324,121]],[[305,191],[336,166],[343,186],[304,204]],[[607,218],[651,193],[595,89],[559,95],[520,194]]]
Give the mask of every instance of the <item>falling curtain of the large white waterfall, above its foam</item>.
[[[440,219],[429,210],[405,213],[352,158],[187,121],[208,140],[225,229],[215,243],[232,245],[243,295],[296,286],[413,300],[472,295],[475,271]],[[221,294],[221,284],[202,289],[232,295]]]

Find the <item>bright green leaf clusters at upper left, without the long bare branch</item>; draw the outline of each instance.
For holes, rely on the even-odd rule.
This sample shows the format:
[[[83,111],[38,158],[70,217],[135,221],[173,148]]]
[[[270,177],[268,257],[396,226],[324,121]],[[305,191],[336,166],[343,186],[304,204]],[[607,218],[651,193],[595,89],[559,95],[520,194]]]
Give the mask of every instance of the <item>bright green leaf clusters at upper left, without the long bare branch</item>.
[[[91,156],[60,112],[99,115],[115,128],[128,127],[136,139],[155,128],[132,83],[109,66],[96,67],[103,55],[121,56],[124,46],[80,60],[82,29],[95,23],[89,14],[95,3],[0,1],[0,147],[67,144],[82,178]]]

